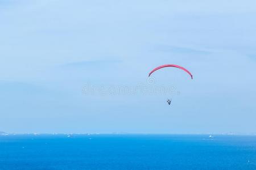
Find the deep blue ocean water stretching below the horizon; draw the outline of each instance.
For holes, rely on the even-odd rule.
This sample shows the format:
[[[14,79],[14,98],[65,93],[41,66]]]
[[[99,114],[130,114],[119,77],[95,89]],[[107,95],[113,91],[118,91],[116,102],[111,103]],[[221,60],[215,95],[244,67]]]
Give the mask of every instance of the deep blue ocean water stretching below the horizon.
[[[256,169],[256,137],[0,135],[0,169]]]

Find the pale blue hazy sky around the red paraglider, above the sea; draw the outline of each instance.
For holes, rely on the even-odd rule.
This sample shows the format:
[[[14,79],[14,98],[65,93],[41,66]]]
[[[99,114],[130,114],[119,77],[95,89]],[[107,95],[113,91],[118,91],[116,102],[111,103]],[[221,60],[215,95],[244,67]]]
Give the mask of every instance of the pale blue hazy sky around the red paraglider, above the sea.
[[[0,0],[0,131],[256,134],[255,5]]]

